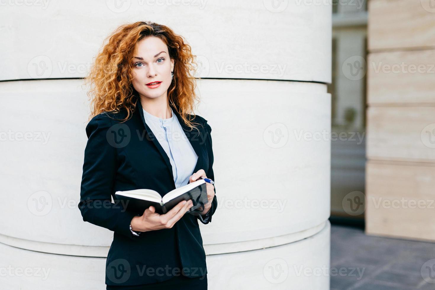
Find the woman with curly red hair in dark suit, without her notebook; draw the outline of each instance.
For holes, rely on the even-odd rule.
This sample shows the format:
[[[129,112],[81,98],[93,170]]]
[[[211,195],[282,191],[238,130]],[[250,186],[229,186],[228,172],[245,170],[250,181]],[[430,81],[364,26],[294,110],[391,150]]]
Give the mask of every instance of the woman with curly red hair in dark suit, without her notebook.
[[[79,208],[83,220],[114,231],[107,254],[106,289],[207,289],[207,266],[198,219],[211,222],[208,203],[166,214],[149,207],[125,211],[117,190],[148,188],[162,196],[197,180],[214,179],[211,127],[191,115],[195,83],[191,47],[170,28],[151,22],[119,27],[98,54]],[[111,203],[111,197],[114,203]]]

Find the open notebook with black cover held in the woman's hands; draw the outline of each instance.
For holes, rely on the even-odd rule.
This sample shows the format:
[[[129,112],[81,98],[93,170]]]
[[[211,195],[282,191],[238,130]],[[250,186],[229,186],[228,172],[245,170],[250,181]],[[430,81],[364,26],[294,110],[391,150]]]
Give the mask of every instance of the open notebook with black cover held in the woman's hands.
[[[203,179],[188,183],[166,193],[163,197],[151,189],[134,189],[117,191],[115,196],[124,200],[124,210],[133,211],[136,214],[143,214],[144,210],[153,206],[156,213],[164,214],[175,207],[182,200],[192,200],[193,206],[188,212],[192,212],[208,203],[207,187]]]

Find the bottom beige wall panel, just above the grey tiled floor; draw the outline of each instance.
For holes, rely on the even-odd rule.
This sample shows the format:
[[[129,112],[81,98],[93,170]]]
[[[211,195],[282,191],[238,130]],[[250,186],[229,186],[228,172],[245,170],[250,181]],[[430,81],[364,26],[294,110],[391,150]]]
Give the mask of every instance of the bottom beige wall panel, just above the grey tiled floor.
[[[366,233],[435,240],[435,166],[367,163]]]

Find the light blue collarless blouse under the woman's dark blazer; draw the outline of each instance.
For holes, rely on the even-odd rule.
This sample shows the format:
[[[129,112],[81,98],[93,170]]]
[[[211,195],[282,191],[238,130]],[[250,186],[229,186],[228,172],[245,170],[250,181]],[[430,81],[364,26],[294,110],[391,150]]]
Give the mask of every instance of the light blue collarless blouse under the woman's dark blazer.
[[[156,117],[145,109],[143,110],[145,122],[151,131],[153,131],[154,136],[171,161],[175,188],[186,185],[189,183],[189,177],[194,173],[193,170],[195,169],[198,156],[187,139],[177,116],[175,116],[172,108],[172,117],[167,119]],[[203,223],[207,222],[208,213],[204,216],[204,219],[201,215],[198,216]]]

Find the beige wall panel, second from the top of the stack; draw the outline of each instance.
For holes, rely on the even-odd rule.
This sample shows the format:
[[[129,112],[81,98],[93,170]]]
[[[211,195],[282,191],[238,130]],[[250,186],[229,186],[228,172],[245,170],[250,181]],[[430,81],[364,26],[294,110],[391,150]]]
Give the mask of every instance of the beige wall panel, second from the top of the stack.
[[[435,104],[435,50],[370,53],[368,104]]]

